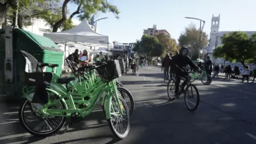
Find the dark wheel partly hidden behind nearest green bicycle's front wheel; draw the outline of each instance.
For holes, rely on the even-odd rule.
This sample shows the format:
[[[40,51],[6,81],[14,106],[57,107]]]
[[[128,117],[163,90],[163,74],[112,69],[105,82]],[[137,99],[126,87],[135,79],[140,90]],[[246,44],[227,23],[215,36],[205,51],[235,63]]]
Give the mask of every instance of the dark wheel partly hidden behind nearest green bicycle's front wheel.
[[[125,100],[125,103],[128,106],[129,113],[131,116],[134,109],[134,100],[131,92],[129,92],[129,90],[127,90],[126,88],[120,88],[120,87],[117,88],[117,91],[118,91],[118,96],[120,95]]]

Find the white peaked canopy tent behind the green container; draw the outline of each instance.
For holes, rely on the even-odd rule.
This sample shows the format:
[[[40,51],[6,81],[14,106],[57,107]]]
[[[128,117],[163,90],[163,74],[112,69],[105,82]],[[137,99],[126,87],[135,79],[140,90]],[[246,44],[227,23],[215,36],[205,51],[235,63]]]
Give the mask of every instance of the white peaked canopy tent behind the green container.
[[[65,44],[65,56],[66,46],[81,44],[84,46],[97,46],[106,45],[109,49],[109,38],[105,35],[100,35],[93,30],[93,26],[88,24],[86,19],[82,20],[79,25],[67,31],[60,31],[54,33],[44,33],[44,36],[50,38],[52,41],[58,44]]]

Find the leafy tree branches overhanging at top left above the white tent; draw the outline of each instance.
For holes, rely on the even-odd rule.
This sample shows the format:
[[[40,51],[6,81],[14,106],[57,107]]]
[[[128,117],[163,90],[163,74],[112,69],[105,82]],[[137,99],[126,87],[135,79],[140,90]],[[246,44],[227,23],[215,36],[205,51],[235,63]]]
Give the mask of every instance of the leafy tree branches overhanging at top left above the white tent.
[[[72,17],[68,19],[68,12],[62,9],[68,3],[77,5],[77,11],[72,12],[72,17],[79,14],[81,20],[90,19],[92,14],[99,12],[112,12],[116,18],[119,18],[118,8],[108,0],[19,0],[19,28],[30,26],[33,18],[44,19],[55,31],[58,28],[62,30],[73,28]],[[12,0],[0,0],[0,21],[3,21],[4,13],[8,11],[7,19],[14,22],[16,8],[17,4]],[[63,15],[65,16],[64,19]]]

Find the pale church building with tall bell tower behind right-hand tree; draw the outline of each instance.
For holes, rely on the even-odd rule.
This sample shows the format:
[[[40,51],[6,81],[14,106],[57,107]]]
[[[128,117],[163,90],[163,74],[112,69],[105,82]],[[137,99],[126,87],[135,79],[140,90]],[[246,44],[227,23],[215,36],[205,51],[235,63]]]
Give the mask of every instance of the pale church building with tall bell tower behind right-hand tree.
[[[219,31],[219,28],[220,28],[220,15],[218,17],[214,17],[214,15],[212,15],[210,42],[209,42],[209,45],[207,46],[206,53],[207,53],[207,56],[210,56],[213,63],[230,64],[229,61],[225,61],[222,58],[214,58],[212,56],[214,49],[216,49],[218,45],[220,46],[223,45],[221,43],[221,36],[223,36],[226,33],[232,32],[232,31]],[[252,35],[253,33],[256,33],[256,31],[243,31],[243,32],[248,33],[248,35]],[[239,63],[236,63],[236,65],[239,65]]]

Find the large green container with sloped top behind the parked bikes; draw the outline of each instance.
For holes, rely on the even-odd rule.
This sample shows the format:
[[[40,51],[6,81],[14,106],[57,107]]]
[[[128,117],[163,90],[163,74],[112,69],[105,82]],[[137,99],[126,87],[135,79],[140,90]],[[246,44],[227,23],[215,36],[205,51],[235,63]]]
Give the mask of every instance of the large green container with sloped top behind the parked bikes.
[[[1,98],[22,97],[24,70],[27,66],[20,50],[29,52],[41,63],[63,63],[63,51],[49,38],[10,26],[0,29]],[[52,69],[44,67],[43,71],[51,72]],[[55,72],[60,76],[61,67],[56,67]]]

